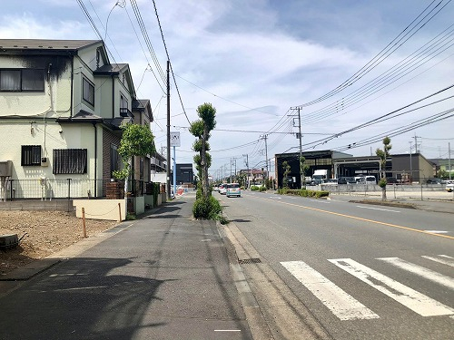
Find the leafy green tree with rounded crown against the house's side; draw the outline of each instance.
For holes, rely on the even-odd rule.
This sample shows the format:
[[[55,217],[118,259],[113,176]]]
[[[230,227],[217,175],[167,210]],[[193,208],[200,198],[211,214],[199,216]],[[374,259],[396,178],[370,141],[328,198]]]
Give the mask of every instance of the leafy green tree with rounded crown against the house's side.
[[[153,132],[144,125],[124,124],[122,140],[118,147],[118,154],[123,160],[123,169],[113,171],[115,179],[124,180],[124,193],[128,191],[128,181],[131,174],[131,165],[134,156],[146,157],[156,152]]]

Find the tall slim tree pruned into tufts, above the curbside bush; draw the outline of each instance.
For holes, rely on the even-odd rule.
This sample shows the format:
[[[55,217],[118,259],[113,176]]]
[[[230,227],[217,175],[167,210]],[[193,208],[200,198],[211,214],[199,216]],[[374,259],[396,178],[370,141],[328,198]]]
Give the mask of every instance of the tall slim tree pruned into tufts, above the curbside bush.
[[[212,157],[208,153],[210,151],[210,131],[216,127],[216,109],[211,103],[203,103],[197,108],[197,114],[200,120],[194,121],[189,128],[189,131],[198,138],[192,145],[193,151],[199,152],[194,156],[196,169],[199,171],[199,180],[201,181],[202,197],[209,199],[211,196],[210,183],[208,181],[208,169],[212,165]]]

